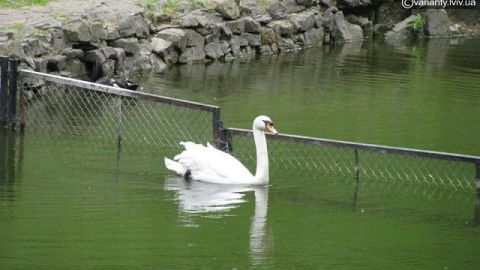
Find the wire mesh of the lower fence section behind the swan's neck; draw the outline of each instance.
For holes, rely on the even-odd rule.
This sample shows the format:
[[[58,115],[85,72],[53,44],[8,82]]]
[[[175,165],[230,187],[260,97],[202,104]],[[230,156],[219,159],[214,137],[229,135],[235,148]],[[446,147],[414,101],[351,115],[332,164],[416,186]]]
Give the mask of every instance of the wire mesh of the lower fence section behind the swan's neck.
[[[254,171],[255,145],[251,133],[230,133],[233,155]],[[475,188],[475,164],[415,154],[392,153],[366,147],[290,140],[288,135],[270,136],[268,152],[271,171],[278,176],[335,176],[348,181],[358,178],[388,183],[413,183],[454,189]],[[333,178],[332,178],[333,179]]]

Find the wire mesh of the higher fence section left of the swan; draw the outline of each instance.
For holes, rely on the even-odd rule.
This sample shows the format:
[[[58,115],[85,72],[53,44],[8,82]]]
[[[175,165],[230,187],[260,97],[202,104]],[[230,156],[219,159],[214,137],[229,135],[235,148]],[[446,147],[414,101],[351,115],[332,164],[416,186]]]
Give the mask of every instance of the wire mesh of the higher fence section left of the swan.
[[[27,134],[51,139],[74,137],[99,145],[121,143],[127,149],[142,151],[176,149],[185,140],[212,141],[210,107],[196,109],[169,100],[159,102],[151,96],[142,98],[141,94],[101,92],[59,78],[35,83],[29,82],[31,79],[39,78],[28,74],[19,82]],[[102,89],[98,85],[96,88]]]

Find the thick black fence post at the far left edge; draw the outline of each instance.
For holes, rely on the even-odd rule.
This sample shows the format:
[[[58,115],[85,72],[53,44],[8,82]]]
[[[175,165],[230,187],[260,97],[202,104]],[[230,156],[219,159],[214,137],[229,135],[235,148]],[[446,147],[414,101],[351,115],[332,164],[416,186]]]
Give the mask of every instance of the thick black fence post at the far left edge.
[[[17,60],[0,57],[0,125],[15,127],[17,106]]]

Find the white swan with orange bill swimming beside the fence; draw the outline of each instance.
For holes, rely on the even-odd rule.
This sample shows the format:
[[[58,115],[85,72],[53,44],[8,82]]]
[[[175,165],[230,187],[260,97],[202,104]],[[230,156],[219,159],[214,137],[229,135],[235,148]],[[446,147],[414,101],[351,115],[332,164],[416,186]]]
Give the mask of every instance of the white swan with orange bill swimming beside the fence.
[[[185,150],[174,160],[165,158],[165,167],[192,180],[217,184],[268,184],[268,152],[265,131],[277,134],[268,116],[253,120],[253,138],[257,152],[257,171],[252,175],[240,161],[228,153],[207,143],[207,146],[193,142],[181,142]]]

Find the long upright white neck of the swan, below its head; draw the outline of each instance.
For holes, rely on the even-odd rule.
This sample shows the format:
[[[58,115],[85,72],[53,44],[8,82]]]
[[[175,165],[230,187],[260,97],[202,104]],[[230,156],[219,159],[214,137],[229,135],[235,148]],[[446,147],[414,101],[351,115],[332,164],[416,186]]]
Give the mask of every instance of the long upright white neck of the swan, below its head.
[[[268,184],[268,151],[265,133],[262,130],[253,128],[253,139],[255,140],[255,149],[257,151],[257,171],[253,177],[254,184]]]

